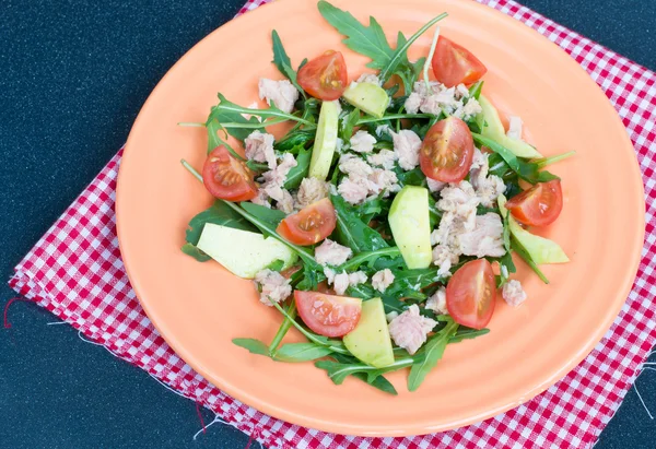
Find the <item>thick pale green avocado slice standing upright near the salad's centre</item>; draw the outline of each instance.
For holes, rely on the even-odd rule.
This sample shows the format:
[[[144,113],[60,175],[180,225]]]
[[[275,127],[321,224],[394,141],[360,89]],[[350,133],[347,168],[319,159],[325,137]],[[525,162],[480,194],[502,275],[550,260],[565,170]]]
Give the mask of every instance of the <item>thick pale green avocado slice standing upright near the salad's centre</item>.
[[[433,261],[429,189],[406,186],[389,209],[391,235],[409,269],[427,268]]]

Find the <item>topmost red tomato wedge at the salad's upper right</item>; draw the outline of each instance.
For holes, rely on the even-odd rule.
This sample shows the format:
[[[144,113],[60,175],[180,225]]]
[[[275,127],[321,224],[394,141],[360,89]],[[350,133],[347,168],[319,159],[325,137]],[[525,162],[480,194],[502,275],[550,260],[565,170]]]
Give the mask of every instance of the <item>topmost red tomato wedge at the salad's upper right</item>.
[[[471,51],[442,36],[437,39],[432,64],[435,79],[447,87],[473,84],[488,71]]]

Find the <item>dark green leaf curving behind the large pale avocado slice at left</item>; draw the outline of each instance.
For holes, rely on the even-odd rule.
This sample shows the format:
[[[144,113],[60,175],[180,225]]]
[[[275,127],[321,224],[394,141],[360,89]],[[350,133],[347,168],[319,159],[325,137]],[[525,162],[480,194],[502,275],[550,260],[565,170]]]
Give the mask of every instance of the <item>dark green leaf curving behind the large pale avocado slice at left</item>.
[[[235,213],[232,209],[227,208],[223,202],[215,201],[210,208],[198,213],[189,221],[187,231],[185,233],[185,239],[187,243],[183,246],[183,252],[191,256],[199,262],[204,262],[211,258],[196,247],[200,235],[206,223],[218,224],[227,227],[234,227],[235,229],[257,232],[248,221],[244,220],[239,214]]]

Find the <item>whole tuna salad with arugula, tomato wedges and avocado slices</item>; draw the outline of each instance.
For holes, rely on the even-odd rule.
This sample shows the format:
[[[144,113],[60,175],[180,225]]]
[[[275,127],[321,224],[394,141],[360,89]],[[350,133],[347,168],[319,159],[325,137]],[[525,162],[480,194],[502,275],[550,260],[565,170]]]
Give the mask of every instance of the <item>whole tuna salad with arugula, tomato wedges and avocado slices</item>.
[[[371,70],[350,78],[326,48],[295,69],[273,31],[281,76],[259,80],[260,103],[220,93],[204,122],[179,123],[207,129],[202,170],[183,165],[215,198],[183,251],[253,279],[280,312],[271,342],[235,344],[393,394],[385,374],[410,368],[414,391],[449,344],[489,332],[497,295],[526,300],[513,253],[544,283],[540,264],[569,261],[530,227],[561,213],[561,180],[544,167],[573,153],[543,157],[519,117],[504,125],[484,63],[438,27],[426,57],[408,59],[446,13],[393,48],[374,17],[318,10]],[[282,344],[292,327],[307,341]]]

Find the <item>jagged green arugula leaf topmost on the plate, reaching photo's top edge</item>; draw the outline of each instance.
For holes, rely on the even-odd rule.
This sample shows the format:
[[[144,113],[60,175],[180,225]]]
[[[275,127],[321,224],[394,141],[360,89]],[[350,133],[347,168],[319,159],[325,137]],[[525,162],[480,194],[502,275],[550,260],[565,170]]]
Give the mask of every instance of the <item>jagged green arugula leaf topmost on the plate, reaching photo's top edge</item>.
[[[374,17],[370,17],[370,26],[361,24],[350,12],[342,11],[327,1],[319,1],[318,9],[324,19],[339,33],[347,36],[347,47],[372,59],[366,67],[383,69],[394,56],[383,28]]]

